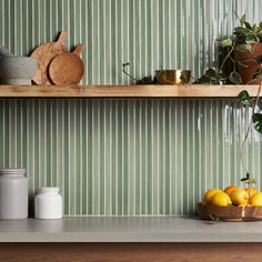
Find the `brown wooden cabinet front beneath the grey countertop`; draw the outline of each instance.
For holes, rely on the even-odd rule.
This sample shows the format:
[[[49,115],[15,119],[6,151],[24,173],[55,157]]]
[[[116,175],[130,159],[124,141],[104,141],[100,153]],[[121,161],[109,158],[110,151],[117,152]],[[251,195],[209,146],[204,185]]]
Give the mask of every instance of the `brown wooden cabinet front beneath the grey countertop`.
[[[4,262],[259,262],[262,243],[0,244]]]

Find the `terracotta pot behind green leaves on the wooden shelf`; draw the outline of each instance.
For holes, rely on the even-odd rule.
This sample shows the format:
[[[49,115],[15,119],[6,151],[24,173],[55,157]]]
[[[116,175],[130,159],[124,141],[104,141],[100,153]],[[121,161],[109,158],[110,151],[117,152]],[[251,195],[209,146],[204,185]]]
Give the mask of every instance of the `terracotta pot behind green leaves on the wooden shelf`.
[[[239,61],[243,61],[246,59],[255,59],[260,56],[262,56],[262,43],[254,44],[253,52],[240,52],[240,51],[234,52],[234,58]],[[242,83],[249,83],[249,84],[260,83],[260,80],[253,80],[253,73],[256,72],[259,69],[261,69],[260,63],[252,61],[248,63],[248,67],[238,64],[238,69],[242,79]]]

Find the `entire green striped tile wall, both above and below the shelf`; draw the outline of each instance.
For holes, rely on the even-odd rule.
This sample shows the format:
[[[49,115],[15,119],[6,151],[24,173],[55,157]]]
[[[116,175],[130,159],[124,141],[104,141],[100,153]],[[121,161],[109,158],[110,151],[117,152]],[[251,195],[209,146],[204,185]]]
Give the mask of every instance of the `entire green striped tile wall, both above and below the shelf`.
[[[260,0],[0,0],[0,44],[24,56],[69,32],[83,42],[83,83],[129,83],[159,68],[195,77],[214,39],[260,20]],[[23,167],[30,193],[58,185],[68,215],[188,215],[205,189],[240,184],[250,112],[232,100],[0,100],[0,165]],[[261,174],[261,137],[244,159]],[[260,187],[260,184],[259,184]]]

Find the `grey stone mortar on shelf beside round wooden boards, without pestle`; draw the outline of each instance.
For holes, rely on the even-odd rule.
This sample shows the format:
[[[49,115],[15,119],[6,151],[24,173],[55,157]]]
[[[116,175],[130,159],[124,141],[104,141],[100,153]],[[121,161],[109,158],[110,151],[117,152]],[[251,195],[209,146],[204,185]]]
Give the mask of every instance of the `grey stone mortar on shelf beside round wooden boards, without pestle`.
[[[31,84],[36,71],[33,58],[0,57],[0,82],[3,84]]]

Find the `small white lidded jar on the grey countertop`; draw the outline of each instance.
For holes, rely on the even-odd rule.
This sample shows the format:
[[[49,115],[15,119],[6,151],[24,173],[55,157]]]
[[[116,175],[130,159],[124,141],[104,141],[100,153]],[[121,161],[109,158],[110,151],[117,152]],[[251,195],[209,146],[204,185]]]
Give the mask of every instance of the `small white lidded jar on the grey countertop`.
[[[40,188],[34,198],[36,219],[61,219],[62,196],[59,188]]]

